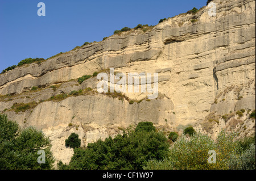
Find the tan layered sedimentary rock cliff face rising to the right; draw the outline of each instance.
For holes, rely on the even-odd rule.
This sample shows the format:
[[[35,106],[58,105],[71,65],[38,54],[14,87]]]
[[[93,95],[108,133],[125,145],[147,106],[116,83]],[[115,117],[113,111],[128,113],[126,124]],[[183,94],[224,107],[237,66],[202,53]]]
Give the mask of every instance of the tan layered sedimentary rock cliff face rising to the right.
[[[42,64],[1,74],[0,111],[22,128],[42,129],[52,140],[56,159],[64,163],[73,153],[64,146],[72,132],[79,134],[82,145],[122,133],[123,128],[140,121],[177,132],[193,125],[213,137],[221,128],[236,128],[245,136],[255,132],[249,118],[255,110],[255,1],[212,2],[216,16],[209,15],[212,7],[203,7],[196,14],[167,19],[148,32],[123,32]],[[96,77],[81,85],[76,81],[94,71],[108,72],[108,68],[125,74],[158,73],[158,98],[131,104],[98,93]],[[30,91],[33,86],[40,89]],[[49,99],[88,87],[93,94]],[[141,100],[148,93],[125,95]],[[33,101],[37,103],[33,109],[15,112],[12,108],[14,103]],[[247,114],[232,115],[241,109]],[[216,121],[209,122],[211,114]],[[245,126],[247,129],[241,129]]]

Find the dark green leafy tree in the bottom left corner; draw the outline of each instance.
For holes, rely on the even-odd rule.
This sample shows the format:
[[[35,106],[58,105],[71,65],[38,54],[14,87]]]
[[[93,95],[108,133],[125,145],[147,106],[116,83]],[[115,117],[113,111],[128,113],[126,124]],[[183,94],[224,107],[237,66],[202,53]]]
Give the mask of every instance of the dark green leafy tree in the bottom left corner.
[[[53,157],[49,139],[42,131],[29,127],[20,131],[18,124],[0,115],[0,169],[51,169]],[[46,163],[38,163],[39,150],[46,153]]]

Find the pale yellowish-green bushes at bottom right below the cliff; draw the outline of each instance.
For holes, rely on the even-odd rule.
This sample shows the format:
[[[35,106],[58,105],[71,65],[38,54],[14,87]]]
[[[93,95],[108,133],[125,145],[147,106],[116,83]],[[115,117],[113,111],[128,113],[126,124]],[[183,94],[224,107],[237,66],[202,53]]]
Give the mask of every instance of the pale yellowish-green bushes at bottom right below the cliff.
[[[171,145],[170,157],[163,161],[154,159],[143,169],[255,169],[255,136],[237,140],[236,133],[221,131],[216,139],[202,133],[192,137],[181,136]],[[210,150],[216,153],[216,163],[209,163]]]

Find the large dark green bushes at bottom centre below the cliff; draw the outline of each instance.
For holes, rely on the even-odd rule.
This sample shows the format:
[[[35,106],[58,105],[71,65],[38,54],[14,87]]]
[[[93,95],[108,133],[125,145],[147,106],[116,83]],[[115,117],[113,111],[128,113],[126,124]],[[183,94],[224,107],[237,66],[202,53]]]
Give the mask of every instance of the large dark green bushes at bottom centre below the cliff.
[[[59,162],[59,169],[142,169],[149,159],[168,157],[170,145],[166,136],[149,127],[98,140],[85,149],[76,148],[69,165]]]

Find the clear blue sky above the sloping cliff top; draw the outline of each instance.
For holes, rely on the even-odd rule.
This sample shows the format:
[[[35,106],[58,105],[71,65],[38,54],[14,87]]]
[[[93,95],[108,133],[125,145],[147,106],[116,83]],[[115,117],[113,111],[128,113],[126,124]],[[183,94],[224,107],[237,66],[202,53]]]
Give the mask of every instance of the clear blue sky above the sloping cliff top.
[[[39,2],[46,16],[38,16]],[[207,0],[0,0],[0,73],[25,58],[48,58],[123,27],[156,25]]]

